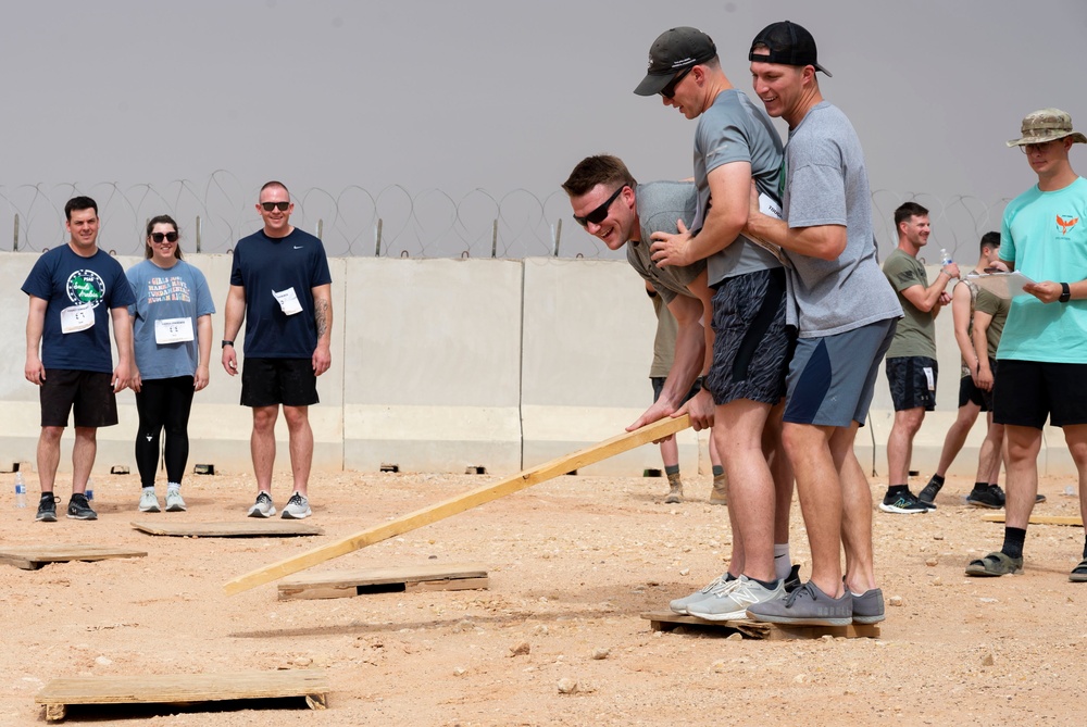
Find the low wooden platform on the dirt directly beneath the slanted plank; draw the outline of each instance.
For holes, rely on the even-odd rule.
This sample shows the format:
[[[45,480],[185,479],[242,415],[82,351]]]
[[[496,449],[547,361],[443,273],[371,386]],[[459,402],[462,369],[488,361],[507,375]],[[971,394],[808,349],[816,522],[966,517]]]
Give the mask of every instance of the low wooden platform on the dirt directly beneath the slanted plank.
[[[361,571],[325,571],[285,578],[279,600],[341,599],[368,593],[459,591],[489,586],[487,568],[476,563],[430,563]]]

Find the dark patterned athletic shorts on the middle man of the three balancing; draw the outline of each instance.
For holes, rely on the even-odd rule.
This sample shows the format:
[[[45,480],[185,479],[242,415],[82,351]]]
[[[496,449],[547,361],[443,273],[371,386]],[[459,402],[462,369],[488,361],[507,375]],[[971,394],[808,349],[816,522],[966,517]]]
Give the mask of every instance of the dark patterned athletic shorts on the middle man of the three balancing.
[[[705,388],[715,404],[776,404],[795,337],[785,325],[785,268],[726,278],[713,293],[713,364]]]

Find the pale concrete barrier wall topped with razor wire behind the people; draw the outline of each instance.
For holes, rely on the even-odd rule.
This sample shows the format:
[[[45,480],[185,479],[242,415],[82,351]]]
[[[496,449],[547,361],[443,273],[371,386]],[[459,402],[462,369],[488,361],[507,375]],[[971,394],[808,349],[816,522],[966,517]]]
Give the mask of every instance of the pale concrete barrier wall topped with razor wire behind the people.
[[[23,376],[26,297],[20,290],[37,255],[0,253],[0,465],[35,460],[40,422],[37,388]],[[138,262],[121,258],[127,268]],[[190,464],[250,472],[251,416],[238,404],[239,377],[220,365],[223,305],[230,255],[188,255],[215,299],[211,384],[196,397],[189,426]],[[557,260],[329,261],[333,273],[333,367],[318,380],[311,408],[314,467],[512,473],[612,437],[652,400],[648,372],[655,318],[640,278],[625,262]],[[936,268],[929,270],[935,277]],[[914,443],[911,467],[935,469],[958,405],[959,353],[951,313],[937,318],[937,411]],[[118,398],[121,422],[99,431],[96,471],[135,472],[135,398]],[[865,471],[886,473],[894,421],[883,373],[869,425],[857,438]],[[976,467],[984,419],[975,424],[951,468]],[[289,467],[286,425],[277,425],[276,467]],[[71,467],[66,435],[62,471]],[[705,435],[679,435],[685,472],[708,472]],[[1044,473],[1073,474],[1059,430],[1047,428]],[[660,467],[655,447],[642,447],[584,468],[583,474],[636,475]]]

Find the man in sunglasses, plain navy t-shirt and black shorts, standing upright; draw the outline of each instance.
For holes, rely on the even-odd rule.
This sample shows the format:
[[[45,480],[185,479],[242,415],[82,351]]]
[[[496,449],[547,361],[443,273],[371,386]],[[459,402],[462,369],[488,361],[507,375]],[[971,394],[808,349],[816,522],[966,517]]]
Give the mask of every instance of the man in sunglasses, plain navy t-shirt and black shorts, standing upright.
[[[332,364],[332,275],[321,240],[291,226],[293,210],[283,183],[268,181],[261,187],[257,211],[264,228],[235,247],[226,299],[223,368],[230,376],[238,373],[234,341],[246,322],[241,404],[253,410],[250,447],[258,489],[250,517],[275,515],[272,467],[280,404],[295,477],[295,491],[283,517],[301,519],[311,514],[308,486],[313,431],[309,406],[318,401],[316,377]]]

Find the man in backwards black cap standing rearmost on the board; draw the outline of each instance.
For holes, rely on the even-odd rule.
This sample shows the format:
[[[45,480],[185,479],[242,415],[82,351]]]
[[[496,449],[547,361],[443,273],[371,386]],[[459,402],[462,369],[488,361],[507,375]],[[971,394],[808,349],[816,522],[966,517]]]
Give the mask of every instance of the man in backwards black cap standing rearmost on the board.
[[[872,562],[872,491],[853,438],[902,308],[876,262],[860,140],[820,92],[815,73],[830,74],[819,64],[815,40],[795,23],[774,23],[755,36],[748,58],[766,112],[789,125],[785,218],[761,214],[752,199],[746,231],[779,245],[792,264],[799,338],[782,438],[812,552],[811,580],[788,598],[752,605],[748,615],[874,624],[885,616]]]

